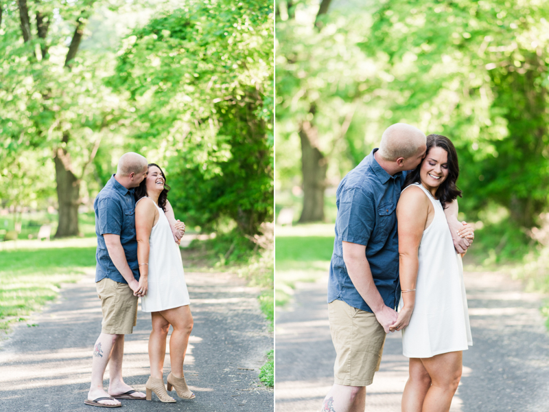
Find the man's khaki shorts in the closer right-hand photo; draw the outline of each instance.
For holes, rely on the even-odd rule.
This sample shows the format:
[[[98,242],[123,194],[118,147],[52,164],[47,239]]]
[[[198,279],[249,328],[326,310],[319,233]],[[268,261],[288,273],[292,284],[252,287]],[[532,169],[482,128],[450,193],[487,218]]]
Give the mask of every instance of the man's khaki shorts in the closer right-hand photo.
[[[331,340],[336,347],[334,382],[365,387],[382,361],[386,333],[375,314],[336,299],[328,304]]]

